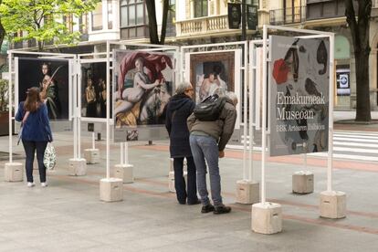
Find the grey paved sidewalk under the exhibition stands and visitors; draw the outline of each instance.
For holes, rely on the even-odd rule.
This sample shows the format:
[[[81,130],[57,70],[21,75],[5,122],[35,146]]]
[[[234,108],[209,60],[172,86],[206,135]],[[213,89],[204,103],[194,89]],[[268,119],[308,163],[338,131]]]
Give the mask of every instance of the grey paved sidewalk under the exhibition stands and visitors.
[[[82,138],[82,149],[90,138]],[[16,142],[16,136],[15,141]],[[377,163],[335,161],[333,186],[347,194],[348,214],[340,220],[319,217],[319,194],[326,189],[325,160],[309,159],[315,192],[291,193],[291,174],[303,169],[300,157],[268,160],[267,197],[283,207],[283,232],[253,233],[250,205],[235,203],[236,181],[242,177],[241,153],[226,150],[221,160],[222,191],[227,215],[203,215],[199,205],[179,205],[168,191],[168,142],[130,148],[135,183],[124,184],[122,202],[99,200],[105,176],[105,141],[99,164],[88,174],[68,176],[72,136],[56,133],[57,170],[48,174],[47,188],[37,183],[5,183],[0,163],[0,251],[377,251]],[[0,138],[7,152],[7,138]],[[22,146],[15,152],[23,155]],[[111,145],[110,165],[119,163],[119,146]],[[258,156],[255,177],[259,180]],[[369,168],[370,167],[370,168]],[[369,169],[368,169],[369,168]],[[37,171],[35,171],[37,179]]]

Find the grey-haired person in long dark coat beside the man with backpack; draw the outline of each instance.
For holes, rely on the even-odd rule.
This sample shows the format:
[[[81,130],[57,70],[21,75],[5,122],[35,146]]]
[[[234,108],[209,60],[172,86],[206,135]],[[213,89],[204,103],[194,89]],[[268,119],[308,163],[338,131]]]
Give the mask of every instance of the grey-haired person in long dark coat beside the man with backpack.
[[[197,198],[195,165],[189,144],[189,131],[186,119],[192,114],[195,103],[194,89],[188,82],[181,83],[176,88],[175,95],[166,106],[165,128],[170,137],[170,152],[173,158],[174,187],[180,204],[200,204]],[[184,158],[187,164],[187,191],[183,176]]]

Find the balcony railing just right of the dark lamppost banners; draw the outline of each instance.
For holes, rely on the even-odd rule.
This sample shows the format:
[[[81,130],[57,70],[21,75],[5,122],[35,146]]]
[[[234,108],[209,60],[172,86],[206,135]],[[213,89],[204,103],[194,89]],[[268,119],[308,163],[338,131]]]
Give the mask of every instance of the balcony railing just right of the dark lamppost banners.
[[[306,20],[306,6],[271,10],[269,12],[270,25],[288,25]]]

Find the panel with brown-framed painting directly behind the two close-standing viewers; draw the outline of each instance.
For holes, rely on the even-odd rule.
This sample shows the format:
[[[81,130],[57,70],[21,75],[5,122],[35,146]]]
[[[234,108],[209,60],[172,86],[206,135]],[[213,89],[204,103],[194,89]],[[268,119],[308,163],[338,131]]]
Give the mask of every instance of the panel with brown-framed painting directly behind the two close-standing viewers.
[[[241,121],[241,49],[205,51],[185,54],[185,79],[194,88],[194,100],[201,102],[212,95],[216,89],[236,93],[239,102],[236,105],[236,129]]]

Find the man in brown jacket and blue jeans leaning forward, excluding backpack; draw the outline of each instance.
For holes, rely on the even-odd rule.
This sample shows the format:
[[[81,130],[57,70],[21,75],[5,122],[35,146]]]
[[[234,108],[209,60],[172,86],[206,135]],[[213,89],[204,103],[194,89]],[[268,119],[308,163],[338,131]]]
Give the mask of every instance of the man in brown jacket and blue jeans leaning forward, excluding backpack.
[[[190,131],[190,147],[192,149],[195,167],[197,169],[198,193],[201,196],[201,213],[214,211],[215,215],[226,214],[231,207],[223,205],[219,175],[219,158],[225,156],[226,143],[234,132],[236,122],[235,93],[229,93],[220,99],[226,99],[225,107],[216,121],[199,121],[194,113],[188,118],[187,125]],[[210,174],[211,196],[214,206],[211,205],[206,188],[206,163]]]

